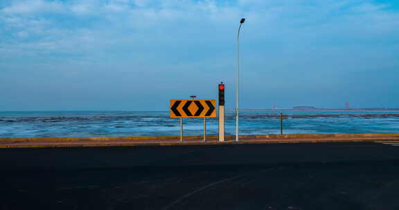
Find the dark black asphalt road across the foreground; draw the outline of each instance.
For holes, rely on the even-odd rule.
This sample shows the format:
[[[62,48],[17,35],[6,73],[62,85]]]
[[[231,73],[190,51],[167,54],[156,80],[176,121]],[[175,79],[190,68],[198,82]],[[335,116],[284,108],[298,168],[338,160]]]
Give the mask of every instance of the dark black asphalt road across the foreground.
[[[373,142],[0,149],[1,209],[399,209]]]

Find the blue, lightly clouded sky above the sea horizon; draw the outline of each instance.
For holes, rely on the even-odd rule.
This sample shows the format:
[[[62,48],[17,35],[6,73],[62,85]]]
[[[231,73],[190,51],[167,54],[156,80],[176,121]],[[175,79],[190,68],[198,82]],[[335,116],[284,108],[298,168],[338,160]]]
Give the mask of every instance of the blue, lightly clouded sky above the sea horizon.
[[[397,0],[1,0],[0,111],[399,108]]]

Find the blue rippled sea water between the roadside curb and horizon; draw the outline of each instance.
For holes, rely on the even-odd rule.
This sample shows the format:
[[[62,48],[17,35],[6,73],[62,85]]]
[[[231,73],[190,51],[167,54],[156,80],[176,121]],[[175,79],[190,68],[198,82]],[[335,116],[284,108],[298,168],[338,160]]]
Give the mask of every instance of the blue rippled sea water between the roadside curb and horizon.
[[[281,112],[240,112],[240,134],[277,134]],[[399,133],[399,112],[285,111],[284,133]],[[206,120],[207,133],[218,132],[217,118]],[[202,119],[184,119],[184,135],[202,135]],[[226,133],[235,132],[227,113]],[[179,119],[169,112],[66,111],[0,112],[0,137],[88,137],[179,135]]]

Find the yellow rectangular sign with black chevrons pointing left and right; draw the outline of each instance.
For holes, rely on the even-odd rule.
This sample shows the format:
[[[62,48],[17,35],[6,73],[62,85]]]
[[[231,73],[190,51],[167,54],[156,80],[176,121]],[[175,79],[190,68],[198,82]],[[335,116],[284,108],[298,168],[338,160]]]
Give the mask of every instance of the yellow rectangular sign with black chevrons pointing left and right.
[[[170,100],[170,117],[216,117],[216,100]]]

